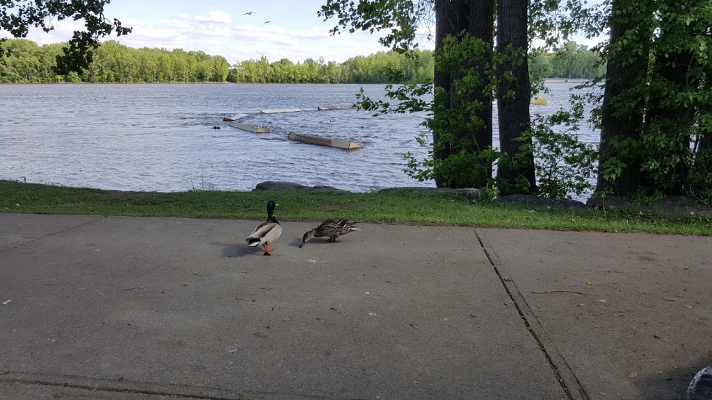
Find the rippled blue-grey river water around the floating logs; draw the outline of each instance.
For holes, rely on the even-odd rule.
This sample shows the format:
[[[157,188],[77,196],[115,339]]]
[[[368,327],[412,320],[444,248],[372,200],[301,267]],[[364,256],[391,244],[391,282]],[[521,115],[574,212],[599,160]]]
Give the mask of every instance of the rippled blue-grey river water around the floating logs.
[[[574,85],[550,83],[553,97],[532,112],[567,106]],[[383,85],[0,85],[0,179],[134,191],[246,191],[261,181],[350,191],[434,186],[402,172],[405,152],[426,155],[414,140],[424,114],[317,110],[352,104],[362,86],[384,97]],[[303,111],[260,113],[276,108]],[[230,127],[224,116],[271,132]],[[365,148],[301,144],[289,132]],[[598,140],[590,130],[580,135]]]

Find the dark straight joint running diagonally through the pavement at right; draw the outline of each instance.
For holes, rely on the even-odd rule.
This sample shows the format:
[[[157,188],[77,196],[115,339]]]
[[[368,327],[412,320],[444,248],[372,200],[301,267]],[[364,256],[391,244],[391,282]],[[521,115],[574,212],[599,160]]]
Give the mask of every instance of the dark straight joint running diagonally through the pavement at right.
[[[572,393],[571,393],[571,390],[569,389],[568,385],[566,384],[566,380],[565,380],[564,377],[562,376],[562,373],[561,373],[559,367],[557,366],[556,362],[554,362],[554,359],[553,359],[552,355],[550,354],[550,352],[549,352],[548,349],[546,348],[546,346],[545,346],[543,340],[541,339],[540,335],[538,335],[538,333],[536,332],[536,330],[534,329],[534,327],[532,326],[532,324],[531,324],[531,323],[529,322],[529,320],[527,319],[527,317],[526,317],[526,315],[525,315],[525,312],[524,312],[523,309],[522,309],[522,306],[519,304],[519,302],[518,302],[517,299],[516,299],[517,296],[515,296],[515,295],[513,294],[512,289],[510,288],[510,285],[508,285],[508,283],[511,283],[511,285],[513,285],[513,287],[514,287],[513,290],[516,290],[516,291],[517,291],[518,297],[521,298],[521,301],[524,302],[524,305],[525,305],[529,310],[531,310],[531,308],[529,307],[528,303],[526,302],[526,299],[525,299],[524,296],[519,292],[519,289],[517,288],[517,286],[516,286],[516,284],[514,283],[514,281],[511,280],[511,279],[506,279],[506,278],[503,276],[503,274],[501,273],[501,270],[500,270],[501,268],[499,268],[499,267],[497,266],[497,263],[495,263],[495,260],[494,260],[493,256],[492,256],[492,255],[490,254],[490,252],[487,250],[488,246],[485,245],[485,243],[484,243],[484,241],[482,240],[482,238],[481,238],[480,234],[478,233],[478,231],[477,231],[476,229],[473,229],[473,231],[475,232],[475,236],[476,236],[476,238],[477,238],[477,241],[480,243],[480,246],[481,246],[481,248],[482,248],[482,251],[484,251],[485,256],[487,256],[487,259],[488,259],[489,262],[490,262],[490,265],[492,265],[492,268],[493,268],[494,272],[497,274],[497,277],[499,278],[500,282],[502,283],[502,286],[504,287],[504,290],[506,291],[506,293],[507,293],[507,295],[509,296],[510,300],[512,300],[512,303],[513,303],[514,307],[516,308],[516,310],[517,310],[517,312],[518,312],[518,314],[519,314],[519,317],[520,317],[520,318],[522,319],[522,321],[524,322],[525,327],[526,327],[527,330],[529,331],[529,334],[533,337],[534,341],[536,342],[537,346],[539,347],[539,350],[544,354],[544,357],[546,358],[546,361],[549,363],[549,366],[550,366],[551,369],[553,370],[554,375],[555,375],[557,381],[559,382],[561,388],[562,388],[563,391],[566,393],[566,396],[568,397],[568,399],[570,399],[570,400],[575,400],[574,396],[573,396]],[[492,249],[492,250],[493,250],[493,249]],[[496,257],[496,255],[495,255],[494,257]],[[537,320],[536,316],[533,315],[533,312],[532,312],[531,314],[532,314],[532,317],[533,317],[535,320]],[[538,320],[537,320],[537,322],[538,322]],[[538,323],[539,323],[539,325],[540,325],[540,322],[538,322]],[[578,389],[578,392],[579,392],[579,394],[581,395],[582,399],[590,400],[590,397],[588,396],[588,394],[586,393],[585,389],[584,389],[583,386],[581,385],[581,382],[578,380],[578,377],[576,377],[576,374],[573,373],[573,371],[571,370],[571,367],[567,364],[566,360],[563,359],[563,357],[561,357],[561,358],[562,358],[562,361],[564,362],[564,364],[566,364],[566,367],[567,367],[567,368],[569,369],[569,371],[571,372],[571,374],[572,374],[572,376],[573,376],[573,379],[575,380],[575,384],[578,386],[577,389]]]

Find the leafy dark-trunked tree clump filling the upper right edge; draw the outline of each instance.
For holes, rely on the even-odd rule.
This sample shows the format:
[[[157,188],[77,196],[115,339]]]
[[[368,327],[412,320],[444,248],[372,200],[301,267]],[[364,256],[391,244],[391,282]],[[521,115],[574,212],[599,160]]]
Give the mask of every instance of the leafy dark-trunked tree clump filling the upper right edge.
[[[610,21],[597,189],[712,202],[712,1],[614,0]]]

